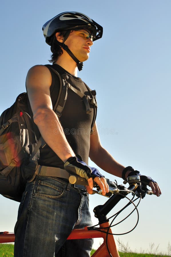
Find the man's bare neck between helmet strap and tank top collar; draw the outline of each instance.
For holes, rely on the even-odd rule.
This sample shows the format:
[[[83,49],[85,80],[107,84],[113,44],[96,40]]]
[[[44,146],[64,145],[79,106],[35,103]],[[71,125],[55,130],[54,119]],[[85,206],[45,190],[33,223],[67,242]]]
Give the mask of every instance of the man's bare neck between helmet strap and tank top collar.
[[[63,69],[68,71],[71,75],[77,77],[77,71],[78,71],[77,64],[71,57],[68,58],[68,54],[65,55],[65,52],[58,57],[55,64],[60,65]]]

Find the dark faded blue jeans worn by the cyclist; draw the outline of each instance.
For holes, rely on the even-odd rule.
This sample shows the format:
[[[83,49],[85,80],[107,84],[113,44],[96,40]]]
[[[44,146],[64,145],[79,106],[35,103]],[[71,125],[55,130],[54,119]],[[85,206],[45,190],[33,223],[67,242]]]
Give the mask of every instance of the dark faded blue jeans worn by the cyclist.
[[[66,240],[91,226],[86,191],[55,177],[27,183],[15,225],[15,257],[89,257],[92,239]]]

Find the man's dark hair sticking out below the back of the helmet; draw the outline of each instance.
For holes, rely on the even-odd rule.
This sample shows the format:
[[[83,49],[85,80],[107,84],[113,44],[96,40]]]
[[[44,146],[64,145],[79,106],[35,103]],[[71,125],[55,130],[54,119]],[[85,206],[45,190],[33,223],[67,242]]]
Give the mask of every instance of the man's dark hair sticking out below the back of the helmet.
[[[66,33],[66,31],[60,31],[60,36],[64,36]],[[61,56],[63,54],[63,51],[60,47],[60,45],[58,45],[57,43],[57,39],[56,39],[56,33],[53,34],[52,38],[51,38],[51,60],[49,60],[50,63],[55,63],[58,59],[59,56]]]

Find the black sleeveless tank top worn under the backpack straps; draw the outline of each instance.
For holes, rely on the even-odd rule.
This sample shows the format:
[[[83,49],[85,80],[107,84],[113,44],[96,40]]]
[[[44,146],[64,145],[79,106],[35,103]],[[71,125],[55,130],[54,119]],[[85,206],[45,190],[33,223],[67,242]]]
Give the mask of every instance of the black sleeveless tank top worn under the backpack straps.
[[[68,82],[81,93],[90,95],[85,84],[80,78],[72,76],[57,64],[53,64],[51,66],[58,73],[67,74],[69,77]],[[59,79],[53,71],[51,71],[51,75],[52,84],[50,87],[50,95],[52,105],[54,106],[59,93]],[[79,97],[71,89],[68,89],[65,107],[62,111],[61,117],[59,118],[67,141],[73,149],[74,153],[81,155],[83,161],[87,164],[90,150],[90,132],[94,113],[94,108],[91,104],[90,110],[92,112],[87,114],[85,104],[83,103],[81,97]],[[55,132],[57,133],[57,131]],[[63,168],[63,161],[48,145],[40,148],[39,164],[44,166]]]

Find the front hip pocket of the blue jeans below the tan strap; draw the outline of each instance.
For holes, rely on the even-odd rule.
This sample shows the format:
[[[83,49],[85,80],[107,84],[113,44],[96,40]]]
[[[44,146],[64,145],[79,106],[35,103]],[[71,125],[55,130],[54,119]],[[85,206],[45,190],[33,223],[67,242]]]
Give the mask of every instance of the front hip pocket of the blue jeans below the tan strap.
[[[65,191],[64,184],[54,185],[46,181],[39,180],[37,185],[36,196],[48,197],[48,198],[59,198]]]

